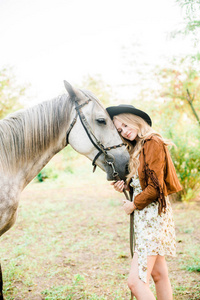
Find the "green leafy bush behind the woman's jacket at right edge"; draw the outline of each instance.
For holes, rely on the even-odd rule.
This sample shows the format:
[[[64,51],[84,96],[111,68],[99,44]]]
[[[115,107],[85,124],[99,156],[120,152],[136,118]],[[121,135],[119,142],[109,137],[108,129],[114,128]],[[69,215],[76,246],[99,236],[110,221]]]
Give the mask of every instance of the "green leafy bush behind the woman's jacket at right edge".
[[[184,119],[173,104],[161,106],[162,119],[157,122],[156,127],[176,145],[170,149],[170,153],[183,187],[180,195],[183,200],[190,200],[200,190],[200,128],[188,118]],[[158,119],[157,116],[154,114],[155,119]]]

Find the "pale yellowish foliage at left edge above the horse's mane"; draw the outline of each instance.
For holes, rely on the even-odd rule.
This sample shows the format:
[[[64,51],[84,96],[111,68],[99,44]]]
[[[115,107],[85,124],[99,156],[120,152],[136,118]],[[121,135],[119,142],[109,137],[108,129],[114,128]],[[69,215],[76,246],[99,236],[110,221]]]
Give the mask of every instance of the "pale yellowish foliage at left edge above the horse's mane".
[[[0,118],[22,108],[19,99],[24,95],[25,89],[16,85],[10,68],[0,70]]]

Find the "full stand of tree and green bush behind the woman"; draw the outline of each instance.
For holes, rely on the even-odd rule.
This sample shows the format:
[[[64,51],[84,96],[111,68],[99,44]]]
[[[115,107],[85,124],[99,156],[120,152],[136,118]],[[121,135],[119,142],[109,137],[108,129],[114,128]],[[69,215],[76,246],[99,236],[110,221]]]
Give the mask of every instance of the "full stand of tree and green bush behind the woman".
[[[190,200],[200,189],[200,71],[191,58],[174,58],[170,67],[157,71],[157,80],[154,126],[177,146],[171,155],[183,186],[182,199]]]

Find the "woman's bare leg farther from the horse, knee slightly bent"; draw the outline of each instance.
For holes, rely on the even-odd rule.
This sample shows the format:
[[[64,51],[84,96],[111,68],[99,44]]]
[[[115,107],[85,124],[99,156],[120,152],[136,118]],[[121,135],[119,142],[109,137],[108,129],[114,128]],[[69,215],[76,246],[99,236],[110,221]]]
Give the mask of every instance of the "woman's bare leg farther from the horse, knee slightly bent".
[[[172,288],[164,256],[157,256],[151,275],[155,282],[158,300],[172,300]]]

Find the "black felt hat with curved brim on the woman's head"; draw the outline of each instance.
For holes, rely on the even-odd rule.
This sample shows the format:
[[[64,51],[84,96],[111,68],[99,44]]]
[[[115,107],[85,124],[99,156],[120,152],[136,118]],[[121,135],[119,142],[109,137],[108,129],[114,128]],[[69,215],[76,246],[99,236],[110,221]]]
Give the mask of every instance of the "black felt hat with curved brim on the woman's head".
[[[128,113],[128,114],[133,114],[136,115],[140,118],[142,118],[144,121],[147,122],[149,126],[152,125],[151,118],[147,113],[144,111],[135,108],[133,105],[129,104],[120,104],[118,106],[109,106],[106,108],[108,114],[110,115],[111,119],[113,119],[114,116]]]

